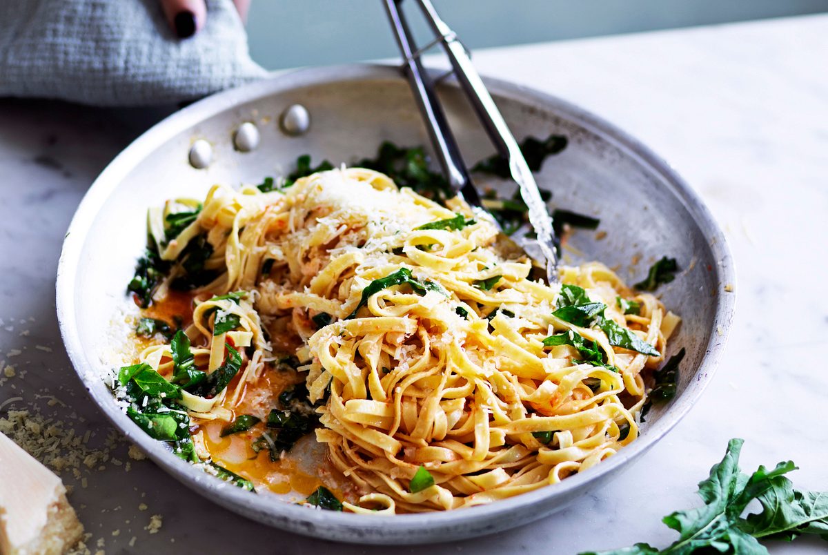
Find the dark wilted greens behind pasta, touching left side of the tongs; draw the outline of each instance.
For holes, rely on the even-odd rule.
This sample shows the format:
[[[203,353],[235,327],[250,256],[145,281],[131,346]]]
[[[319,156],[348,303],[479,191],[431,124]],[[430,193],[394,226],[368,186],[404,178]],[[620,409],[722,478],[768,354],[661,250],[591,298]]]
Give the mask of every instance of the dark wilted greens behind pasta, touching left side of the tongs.
[[[410,187],[418,194],[443,204],[445,200],[453,198],[455,192],[442,174],[429,169],[428,162],[429,158],[422,147],[401,148],[385,141],[380,145],[376,157],[364,158],[354,164],[354,167],[382,171],[397,186]]]

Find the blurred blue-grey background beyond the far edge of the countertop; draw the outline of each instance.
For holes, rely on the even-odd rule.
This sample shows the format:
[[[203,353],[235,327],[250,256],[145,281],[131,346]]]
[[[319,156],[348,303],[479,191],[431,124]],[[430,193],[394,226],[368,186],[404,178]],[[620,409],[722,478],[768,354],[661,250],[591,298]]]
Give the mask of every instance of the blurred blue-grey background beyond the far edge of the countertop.
[[[828,0],[432,2],[469,48],[828,12]],[[419,14],[408,12],[414,22]],[[248,33],[267,69],[397,56],[380,0],[253,0]]]

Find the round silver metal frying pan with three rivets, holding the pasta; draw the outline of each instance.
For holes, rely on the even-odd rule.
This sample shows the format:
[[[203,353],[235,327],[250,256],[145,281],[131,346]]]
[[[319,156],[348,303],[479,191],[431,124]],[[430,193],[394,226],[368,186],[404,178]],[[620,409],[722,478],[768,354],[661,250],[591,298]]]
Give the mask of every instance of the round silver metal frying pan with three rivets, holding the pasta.
[[[729,331],[734,296],[724,289],[734,284],[734,268],[723,234],[696,193],[626,133],[548,94],[498,80],[486,84],[518,139],[551,132],[570,139],[564,152],[547,159],[538,184],[555,191],[554,205],[597,215],[606,232],[604,239],[576,232],[570,245],[582,255],[570,253],[570,262],[600,260],[630,282],[643,278],[662,255],[677,258],[683,269],[662,287],[663,302],[683,318],[671,343],[672,352],[687,350],[679,393],[650,413],[638,441],[589,471],[526,495],[445,513],[380,518],[312,510],[239,490],[180,461],[116,406],[99,376],[120,364],[113,316],[127,302],[125,287],[145,242],[147,207],[172,196],[204,195],[216,182],[258,183],[306,152],[339,163],[372,156],[385,139],[427,144],[405,80],[397,68],[380,65],[301,70],[215,94],[144,133],[94,182],[65,239],[57,312],[70,359],[103,413],[161,468],[214,502],[263,524],[355,543],[428,543],[527,524],[600,488],[664,437],[710,381]],[[455,84],[441,84],[440,94],[465,159],[488,156],[489,140]],[[278,119],[296,103],[308,109],[310,129],[290,136]],[[261,134],[252,152],[233,147],[233,134],[245,122]],[[195,169],[188,158],[199,139],[212,147],[205,169]],[[641,262],[633,266],[635,256]]]

